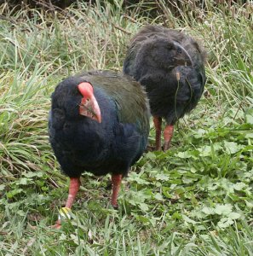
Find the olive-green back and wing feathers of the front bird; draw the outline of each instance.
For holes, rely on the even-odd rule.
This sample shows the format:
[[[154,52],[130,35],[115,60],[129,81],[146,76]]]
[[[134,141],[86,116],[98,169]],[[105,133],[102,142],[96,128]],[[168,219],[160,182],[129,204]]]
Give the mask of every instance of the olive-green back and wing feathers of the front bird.
[[[121,123],[136,124],[141,132],[147,130],[149,104],[141,84],[123,73],[112,71],[82,73],[79,77],[105,90],[112,97],[118,108],[118,119]]]

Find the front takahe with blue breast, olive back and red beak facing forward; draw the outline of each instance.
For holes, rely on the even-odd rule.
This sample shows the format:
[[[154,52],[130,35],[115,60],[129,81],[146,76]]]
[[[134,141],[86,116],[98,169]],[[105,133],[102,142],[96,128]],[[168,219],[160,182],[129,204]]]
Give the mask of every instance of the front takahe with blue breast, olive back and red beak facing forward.
[[[70,209],[82,172],[112,173],[112,206],[129,167],[147,147],[149,107],[141,85],[129,76],[94,71],[65,79],[52,95],[49,140],[70,177]],[[60,227],[60,221],[55,224]]]

